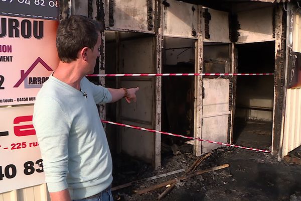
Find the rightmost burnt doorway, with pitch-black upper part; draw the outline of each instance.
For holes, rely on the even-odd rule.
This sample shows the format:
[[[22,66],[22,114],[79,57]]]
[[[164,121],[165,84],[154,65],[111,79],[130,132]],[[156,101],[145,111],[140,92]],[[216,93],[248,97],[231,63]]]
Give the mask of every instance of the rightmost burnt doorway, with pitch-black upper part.
[[[236,45],[238,73],[274,73],[275,43]],[[274,76],[237,76],[233,143],[269,149],[272,143]]]

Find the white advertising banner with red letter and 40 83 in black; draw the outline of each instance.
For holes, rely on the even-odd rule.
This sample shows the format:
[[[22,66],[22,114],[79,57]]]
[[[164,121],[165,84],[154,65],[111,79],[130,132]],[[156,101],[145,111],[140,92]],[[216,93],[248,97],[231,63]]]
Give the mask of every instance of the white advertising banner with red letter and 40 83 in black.
[[[45,183],[33,108],[0,108],[0,193]]]

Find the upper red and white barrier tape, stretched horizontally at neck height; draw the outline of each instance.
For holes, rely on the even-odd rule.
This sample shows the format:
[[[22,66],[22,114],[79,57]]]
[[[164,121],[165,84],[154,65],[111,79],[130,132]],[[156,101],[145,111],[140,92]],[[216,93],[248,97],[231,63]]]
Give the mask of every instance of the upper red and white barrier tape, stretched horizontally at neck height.
[[[274,73],[128,73],[128,74],[90,74],[87,77],[124,77],[124,76],[215,76],[215,75],[274,75]]]

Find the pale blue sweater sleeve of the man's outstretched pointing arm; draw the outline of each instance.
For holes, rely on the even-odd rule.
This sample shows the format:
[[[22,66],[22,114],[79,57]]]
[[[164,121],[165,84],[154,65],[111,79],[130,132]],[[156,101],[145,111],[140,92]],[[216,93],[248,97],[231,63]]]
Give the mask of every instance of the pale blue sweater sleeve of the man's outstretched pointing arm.
[[[96,104],[105,104],[112,101],[112,95],[107,88],[93,84],[87,78],[85,79],[92,89],[93,98]]]

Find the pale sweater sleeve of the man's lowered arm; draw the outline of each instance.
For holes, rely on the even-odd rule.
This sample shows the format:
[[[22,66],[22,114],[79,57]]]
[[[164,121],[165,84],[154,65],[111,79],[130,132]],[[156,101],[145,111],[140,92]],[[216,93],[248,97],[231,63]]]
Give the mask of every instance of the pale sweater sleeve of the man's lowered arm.
[[[34,106],[33,124],[40,146],[49,192],[68,188],[68,136],[71,127],[60,104],[41,97]]]

